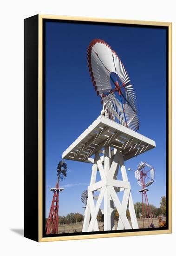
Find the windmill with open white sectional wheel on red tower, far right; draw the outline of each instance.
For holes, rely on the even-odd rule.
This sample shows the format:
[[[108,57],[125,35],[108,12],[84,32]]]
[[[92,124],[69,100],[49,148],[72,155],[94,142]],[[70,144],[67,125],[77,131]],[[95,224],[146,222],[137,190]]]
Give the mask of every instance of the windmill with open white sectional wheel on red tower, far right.
[[[130,168],[128,169],[131,170]],[[137,183],[141,186],[139,192],[142,194],[142,217],[143,217],[143,228],[145,226],[144,220],[148,219],[148,228],[154,228],[153,216],[151,214],[151,208],[147,197],[147,192],[149,187],[154,182],[155,170],[154,168],[146,162],[140,162],[137,166],[137,171],[135,171],[135,178]]]

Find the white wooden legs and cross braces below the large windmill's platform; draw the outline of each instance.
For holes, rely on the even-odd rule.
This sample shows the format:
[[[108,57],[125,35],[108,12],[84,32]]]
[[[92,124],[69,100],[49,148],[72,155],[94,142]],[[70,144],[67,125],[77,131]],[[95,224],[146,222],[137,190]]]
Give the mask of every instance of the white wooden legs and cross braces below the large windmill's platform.
[[[111,156],[111,147],[104,147],[104,155],[100,157],[95,154],[94,164],[91,173],[91,182],[88,187],[88,200],[85,209],[83,232],[98,231],[97,216],[104,199],[104,230],[115,230],[114,206],[119,213],[118,229],[131,229],[130,222],[126,216],[129,207],[130,219],[133,229],[138,229],[137,218],[131,196],[130,182],[128,181],[126,168],[122,153],[115,149],[114,156]],[[103,164],[104,162],[104,164]],[[122,174],[122,181],[117,180],[118,169]],[[99,170],[101,180],[96,182]],[[93,200],[94,191],[99,191],[97,203]],[[122,203],[118,198],[118,193],[124,191]],[[91,217],[91,221],[90,221]]]

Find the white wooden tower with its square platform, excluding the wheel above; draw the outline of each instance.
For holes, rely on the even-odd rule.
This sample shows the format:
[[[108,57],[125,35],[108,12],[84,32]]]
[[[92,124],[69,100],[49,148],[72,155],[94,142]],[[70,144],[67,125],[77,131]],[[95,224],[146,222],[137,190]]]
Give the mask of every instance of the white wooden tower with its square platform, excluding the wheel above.
[[[65,159],[93,164],[90,186],[87,189],[88,200],[83,232],[98,231],[97,216],[102,202],[104,202],[104,230],[115,230],[114,207],[119,213],[117,229],[138,229],[124,161],[154,147],[156,147],[155,141],[100,115],[63,152],[62,157]],[[98,171],[101,180],[96,182]],[[121,172],[122,180],[118,179],[118,172]],[[99,191],[97,201],[93,199],[95,191]],[[121,203],[118,192],[122,191],[124,195]],[[131,224],[126,216],[127,208],[129,208]]]

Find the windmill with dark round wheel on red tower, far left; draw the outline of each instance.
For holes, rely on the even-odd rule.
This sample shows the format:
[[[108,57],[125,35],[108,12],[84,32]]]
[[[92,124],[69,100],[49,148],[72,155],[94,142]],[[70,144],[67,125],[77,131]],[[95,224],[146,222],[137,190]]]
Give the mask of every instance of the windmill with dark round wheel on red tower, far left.
[[[46,223],[46,235],[50,234],[58,234],[58,226],[59,226],[59,192],[64,189],[59,188],[59,182],[63,181],[66,177],[67,165],[64,161],[60,161],[57,167],[57,183],[56,187],[50,189],[53,191],[52,204],[50,208],[50,213],[48,216],[48,220]]]

